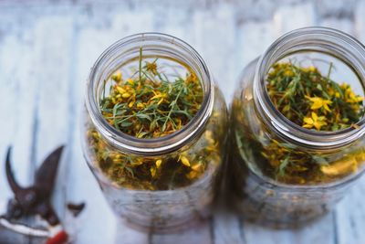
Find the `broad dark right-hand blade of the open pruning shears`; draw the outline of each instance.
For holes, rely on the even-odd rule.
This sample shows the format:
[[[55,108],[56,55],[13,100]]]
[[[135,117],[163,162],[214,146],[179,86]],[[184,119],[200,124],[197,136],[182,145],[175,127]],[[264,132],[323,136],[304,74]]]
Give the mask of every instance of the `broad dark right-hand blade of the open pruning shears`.
[[[36,188],[43,196],[49,197],[55,185],[59,159],[63,151],[63,145],[49,154],[43,164],[36,171]]]

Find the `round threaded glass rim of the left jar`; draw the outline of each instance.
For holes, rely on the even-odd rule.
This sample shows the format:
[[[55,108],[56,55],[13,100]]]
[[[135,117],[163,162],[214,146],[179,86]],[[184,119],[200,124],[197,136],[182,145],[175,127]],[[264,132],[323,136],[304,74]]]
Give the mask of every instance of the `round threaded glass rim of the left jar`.
[[[137,138],[111,126],[99,110],[99,86],[124,61],[144,53],[172,56],[193,69],[203,87],[203,102],[199,111],[182,129],[157,138]],[[89,74],[86,107],[90,119],[101,135],[113,146],[132,154],[159,155],[179,150],[203,132],[214,104],[214,81],[203,58],[183,40],[162,33],[141,33],[124,37],[107,48],[97,59]]]

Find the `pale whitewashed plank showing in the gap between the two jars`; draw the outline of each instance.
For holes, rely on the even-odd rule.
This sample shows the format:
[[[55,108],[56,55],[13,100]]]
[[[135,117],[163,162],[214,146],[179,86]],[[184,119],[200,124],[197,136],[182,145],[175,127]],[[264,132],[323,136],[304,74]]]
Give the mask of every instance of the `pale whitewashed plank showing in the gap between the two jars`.
[[[232,5],[216,5],[209,11],[193,14],[194,48],[211,69],[215,82],[224,87],[226,101],[235,89],[235,18]],[[191,33],[192,35],[192,33]]]

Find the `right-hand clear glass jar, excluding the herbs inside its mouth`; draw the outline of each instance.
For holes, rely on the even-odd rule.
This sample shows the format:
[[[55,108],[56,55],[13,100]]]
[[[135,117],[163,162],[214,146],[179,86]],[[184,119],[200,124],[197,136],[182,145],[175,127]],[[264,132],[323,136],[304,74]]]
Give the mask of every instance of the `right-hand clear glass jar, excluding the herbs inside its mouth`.
[[[308,222],[334,207],[362,175],[365,162],[363,118],[346,129],[320,132],[276,110],[266,90],[266,75],[276,62],[293,59],[325,74],[333,66],[331,80],[349,82],[361,96],[365,86],[365,48],[347,34],[322,27],[280,37],[243,70],[231,107],[234,145],[227,168],[233,177],[228,186],[247,219],[279,228]],[[277,152],[287,161],[276,158]],[[271,165],[298,166],[297,158],[312,164],[313,172],[303,169],[303,175],[311,176],[289,172],[287,181],[278,180]]]

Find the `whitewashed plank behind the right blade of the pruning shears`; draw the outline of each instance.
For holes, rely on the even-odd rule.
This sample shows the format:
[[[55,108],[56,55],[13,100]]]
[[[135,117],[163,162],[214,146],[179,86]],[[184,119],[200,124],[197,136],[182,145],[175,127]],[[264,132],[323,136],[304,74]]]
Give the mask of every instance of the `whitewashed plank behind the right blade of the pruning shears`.
[[[35,128],[35,164],[39,167],[47,154],[57,146],[67,146],[70,134],[69,58],[72,38],[72,17],[42,16],[35,24],[36,58],[34,79],[37,82],[38,100]],[[53,195],[53,207],[58,217],[65,215],[65,189],[68,174],[68,152],[65,147]],[[32,243],[35,243],[33,240]],[[37,243],[37,242],[36,242]]]

